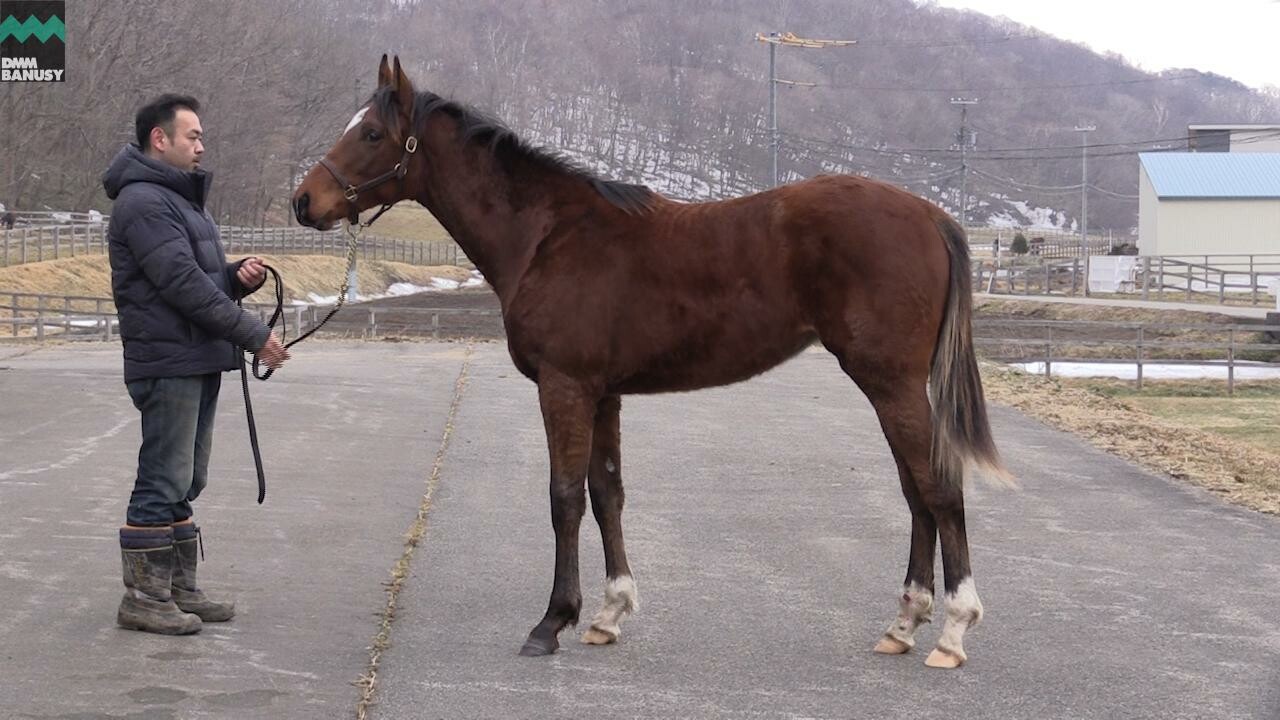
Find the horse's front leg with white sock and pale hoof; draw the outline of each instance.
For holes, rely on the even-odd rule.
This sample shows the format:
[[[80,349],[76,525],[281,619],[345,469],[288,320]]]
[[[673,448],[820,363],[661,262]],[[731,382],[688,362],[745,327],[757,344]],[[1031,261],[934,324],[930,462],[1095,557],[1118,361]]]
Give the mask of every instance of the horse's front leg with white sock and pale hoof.
[[[604,605],[591,619],[591,626],[582,633],[582,642],[586,644],[617,642],[622,632],[618,624],[639,607],[636,584],[622,543],[620,410],[621,400],[617,396],[602,400],[591,433],[591,465],[586,478],[591,493],[591,512],[600,525],[600,539],[604,541],[605,583]]]

